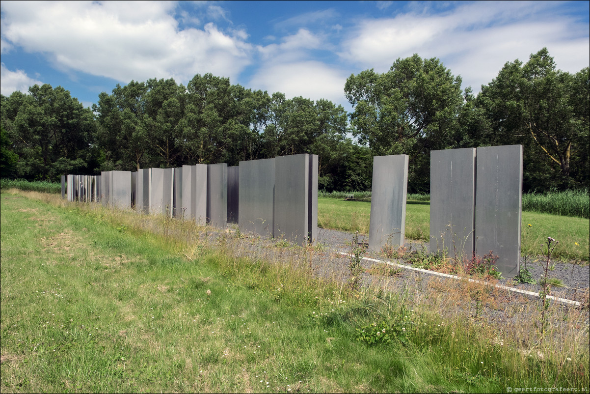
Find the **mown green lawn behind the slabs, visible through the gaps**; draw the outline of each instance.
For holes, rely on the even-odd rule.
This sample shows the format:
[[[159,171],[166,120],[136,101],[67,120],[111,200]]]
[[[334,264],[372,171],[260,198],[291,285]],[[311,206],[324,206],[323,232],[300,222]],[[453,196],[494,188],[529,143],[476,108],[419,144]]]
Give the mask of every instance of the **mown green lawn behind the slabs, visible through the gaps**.
[[[319,198],[317,224],[324,229],[369,233],[371,203]],[[530,226],[529,226],[530,224]],[[590,220],[579,217],[523,212],[521,250],[539,255],[539,245],[547,237],[559,240],[555,256],[588,262],[590,259]],[[430,236],[430,205],[421,202],[406,205],[406,237],[427,242]]]

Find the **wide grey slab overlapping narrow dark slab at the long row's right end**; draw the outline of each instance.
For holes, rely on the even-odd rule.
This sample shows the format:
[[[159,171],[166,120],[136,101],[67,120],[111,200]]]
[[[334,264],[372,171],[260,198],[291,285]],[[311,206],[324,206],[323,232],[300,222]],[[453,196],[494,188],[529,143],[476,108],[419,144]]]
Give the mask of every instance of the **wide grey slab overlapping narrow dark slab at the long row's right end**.
[[[310,230],[309,155],[281,156],[274,160],[274,236],[305,245]]]

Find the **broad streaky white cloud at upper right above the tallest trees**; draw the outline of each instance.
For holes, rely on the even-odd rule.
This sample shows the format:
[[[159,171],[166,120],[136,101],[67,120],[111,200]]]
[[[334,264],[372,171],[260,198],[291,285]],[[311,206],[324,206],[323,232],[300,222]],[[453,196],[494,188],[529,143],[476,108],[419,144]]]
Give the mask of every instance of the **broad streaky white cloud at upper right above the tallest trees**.
[[[422,5],[419,13],[360,21],[343,41],[340,57],[379,72],[414,53],[438,57],[476,92],[506,61],[527,61],[543,47],[558,69],[575,72],[588,66],[587,24],[560,15],[553,3],[475,2],[436,15]]]

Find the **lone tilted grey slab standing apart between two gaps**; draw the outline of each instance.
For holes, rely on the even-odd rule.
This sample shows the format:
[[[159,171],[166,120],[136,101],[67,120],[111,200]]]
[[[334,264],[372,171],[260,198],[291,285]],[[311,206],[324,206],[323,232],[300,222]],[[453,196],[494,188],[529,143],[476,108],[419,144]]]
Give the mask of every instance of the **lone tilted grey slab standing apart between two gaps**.
[[[408,155],[373,157],[369,249],[404,245]]]

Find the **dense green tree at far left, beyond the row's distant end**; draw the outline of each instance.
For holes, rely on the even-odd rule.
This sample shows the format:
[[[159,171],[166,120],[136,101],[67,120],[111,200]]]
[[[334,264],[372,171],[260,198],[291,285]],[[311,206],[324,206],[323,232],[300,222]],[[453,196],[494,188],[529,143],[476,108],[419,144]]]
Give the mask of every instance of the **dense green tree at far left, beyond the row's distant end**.
[[[60,175],[90,173],[96,145],[96,121],[89,108],[58,86],[34,85],[29,94],[2,98],[2,122],[19,159],[18,176],[58,180]]]

